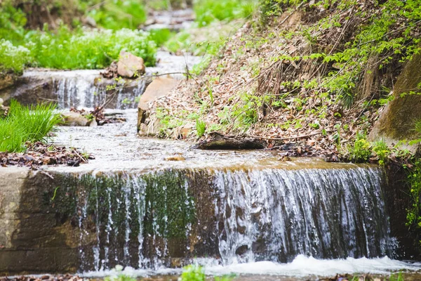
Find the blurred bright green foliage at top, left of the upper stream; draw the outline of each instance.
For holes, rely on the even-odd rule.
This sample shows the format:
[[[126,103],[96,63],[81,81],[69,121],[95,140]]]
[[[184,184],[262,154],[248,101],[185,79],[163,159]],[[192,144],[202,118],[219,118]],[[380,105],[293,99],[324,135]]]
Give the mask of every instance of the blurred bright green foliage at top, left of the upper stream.
[[[133,30],[146,20],[145,8],[139,0],[103,1],[94,7],[88,15],[108,30]]]

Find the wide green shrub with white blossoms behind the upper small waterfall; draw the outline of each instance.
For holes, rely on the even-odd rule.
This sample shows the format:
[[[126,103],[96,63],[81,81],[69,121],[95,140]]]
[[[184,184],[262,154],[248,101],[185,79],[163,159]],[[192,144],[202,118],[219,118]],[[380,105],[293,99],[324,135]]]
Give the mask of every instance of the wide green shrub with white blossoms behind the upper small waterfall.
[[[156,44],[141,30],[76,30],[62,26],[56,33],[30,32],[25,45],[35,66],[57,69],[98,69],[119,58],[121,50],[138,55],[145,65],[154,65]]]

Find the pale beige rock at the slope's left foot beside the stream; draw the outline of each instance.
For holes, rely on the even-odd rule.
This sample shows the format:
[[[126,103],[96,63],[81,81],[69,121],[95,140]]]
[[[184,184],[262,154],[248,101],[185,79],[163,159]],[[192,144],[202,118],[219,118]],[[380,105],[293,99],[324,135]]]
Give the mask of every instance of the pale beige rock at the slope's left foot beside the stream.
[[[138,104],[138,131],[140,131],[140,124],[145,123],[147,119],[147,110],[149,110],[149,104],[154,100],[166,96],[175,86],[178,85],[177,80],[172,78],[156,78],[152,81],[145,93],[140,96]]]

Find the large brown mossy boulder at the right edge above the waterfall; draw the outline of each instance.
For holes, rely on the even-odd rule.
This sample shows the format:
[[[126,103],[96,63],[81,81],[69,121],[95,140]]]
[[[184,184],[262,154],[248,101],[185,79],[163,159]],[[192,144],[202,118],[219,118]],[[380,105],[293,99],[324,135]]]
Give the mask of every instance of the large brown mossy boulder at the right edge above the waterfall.
[[[417,91],[421,83],[420,65],[421,53],[415,54],[406,63],[394,85],[394,99],[386,105],[368,135],[370,141],[382,139],[387,145],[393,146],[399,141],[419,138],[414,127],[415,121],[421,119],[421,95],[408,93]],[[401,148],[415,152],[417,145],[402,145]]]

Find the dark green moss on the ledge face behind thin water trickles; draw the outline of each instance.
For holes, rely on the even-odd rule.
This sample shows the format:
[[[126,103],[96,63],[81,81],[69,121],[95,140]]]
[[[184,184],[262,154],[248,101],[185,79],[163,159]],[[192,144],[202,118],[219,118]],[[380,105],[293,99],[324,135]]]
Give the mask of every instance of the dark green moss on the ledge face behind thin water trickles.
[[[105,230],[111,223],[111,214],[114,233],[121,236],[121,230],[125,230],[128,223],[131,238],[138,237],[141,230],[139,212],[145,211],[141,214],[144,215],[144,236],[180,238],[186,237],[188,225],[195,220],[194,199],[187,190],[188,181],[184,171],[162,171],[138,177],[58,175],[57,188],[44,194],[44,204],[55,209],[60,221],[69,217],[79,221],[86,208],[83,228],[90,231],[95,231],[95,227],[101,232]],[[145,210],[142,210],[143,204]]]

